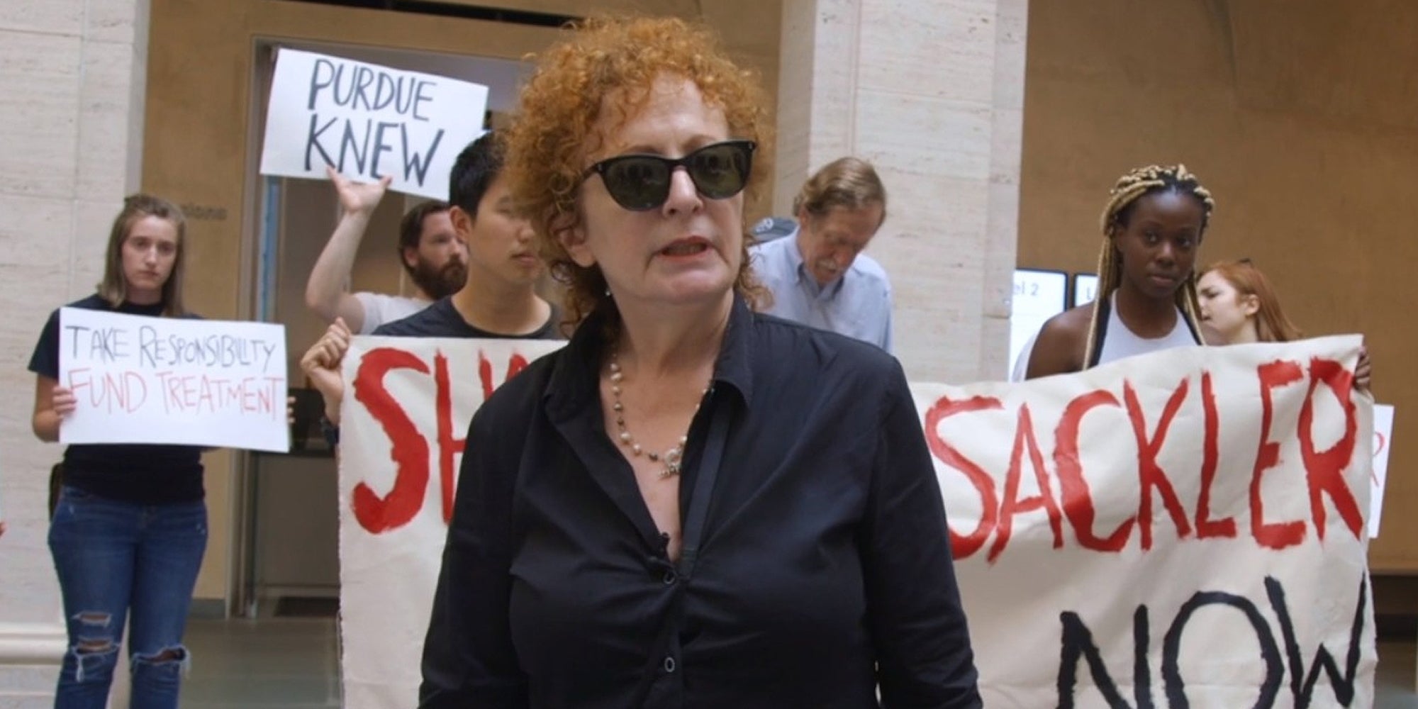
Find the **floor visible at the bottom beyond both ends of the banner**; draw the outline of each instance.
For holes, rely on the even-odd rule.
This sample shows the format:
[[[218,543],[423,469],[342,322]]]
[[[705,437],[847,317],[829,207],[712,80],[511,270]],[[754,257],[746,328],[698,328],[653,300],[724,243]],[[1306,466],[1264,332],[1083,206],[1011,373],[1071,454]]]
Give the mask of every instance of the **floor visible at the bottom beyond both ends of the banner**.
[[[330,618],[193,620],[186,709],[325,709],[340,706]],[[1378,644],[1374,709],[1418,709],[1414,642]]]

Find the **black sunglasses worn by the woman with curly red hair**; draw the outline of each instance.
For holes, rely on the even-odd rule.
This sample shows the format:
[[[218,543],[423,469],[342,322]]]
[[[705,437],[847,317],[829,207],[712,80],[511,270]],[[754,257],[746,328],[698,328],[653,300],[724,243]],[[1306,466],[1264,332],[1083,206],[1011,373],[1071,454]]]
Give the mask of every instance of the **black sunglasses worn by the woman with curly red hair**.
[[[587,167],[581,179],[600,173],[605,191],[615,204],[631,211],[645,211],[669,199],[669,179],[675,167],[683,166],[699,194],[723,200],[743,191],[756,147],[753,140],[725,140],[679,159],[647,153],[617,155]]]

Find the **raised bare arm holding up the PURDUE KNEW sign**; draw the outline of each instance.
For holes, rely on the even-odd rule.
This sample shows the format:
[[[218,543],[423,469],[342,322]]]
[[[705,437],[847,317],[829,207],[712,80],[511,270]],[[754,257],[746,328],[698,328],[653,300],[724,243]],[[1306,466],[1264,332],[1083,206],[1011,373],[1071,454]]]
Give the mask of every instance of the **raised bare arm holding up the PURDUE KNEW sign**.
[[[345,281],[349,279],[359,242],[364,238],[369,220],[384,199],[391,177],[360,184],[345,179],[333,167],[326,166],[325,172],[339,193],[342,214],[330,241],[311,269],[311,279],[305,284],[305,305],[325,322],[345,318],[346,325],[359,332],[364,325],[364,305],[345,289]]]

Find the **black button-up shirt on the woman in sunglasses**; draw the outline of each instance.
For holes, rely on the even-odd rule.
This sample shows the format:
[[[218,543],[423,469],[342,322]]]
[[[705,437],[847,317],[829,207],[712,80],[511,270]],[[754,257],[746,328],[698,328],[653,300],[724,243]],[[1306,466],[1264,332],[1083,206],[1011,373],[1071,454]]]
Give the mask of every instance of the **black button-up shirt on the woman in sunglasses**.
[[[593,316],[472,420],[421,706],[980,706],[895,359],[736,302],[685,452],[689,520],[722,450],[686,567],[605,435],[601,332]]]

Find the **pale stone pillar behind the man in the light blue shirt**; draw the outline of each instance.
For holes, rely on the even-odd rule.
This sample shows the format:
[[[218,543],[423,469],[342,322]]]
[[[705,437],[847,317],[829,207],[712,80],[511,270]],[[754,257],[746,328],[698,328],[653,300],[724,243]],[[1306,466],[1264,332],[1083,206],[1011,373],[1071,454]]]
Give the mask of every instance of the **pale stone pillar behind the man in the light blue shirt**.
[[[888,191],[868,254],[896,294],[908,376],[1003,379],[1027,0],[787,0],[776,211],[813,170],[871,160]]]

